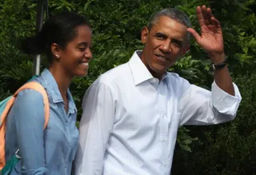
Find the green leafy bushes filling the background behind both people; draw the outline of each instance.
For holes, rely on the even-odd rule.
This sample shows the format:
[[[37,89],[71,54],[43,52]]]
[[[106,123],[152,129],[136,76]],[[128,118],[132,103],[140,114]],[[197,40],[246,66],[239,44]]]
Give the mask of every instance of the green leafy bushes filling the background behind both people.
[[[195,7],[210,6],[222,24],[230,73],[242,93],[232,122],[186,126],[178,131],[172,174],[256,174],[256,18],[255,0],[50,0],[50,15],[63,10],[85,14],[93,28],[94,60],[86,78],[75,78],[70,89],[81,117],[81,99],[99,74],[130,59],[142,49],[140,32],[150,15],[166,7],[186,12],[199,31]],[[18,39],[35,33],[36,1],[0,0],[0,99],[14,93],[31,76],[33,57],[18,50]],[[46,62],[42,62],[42,69]],[[170,68],[191,83],[210,89],[210,61],[191,41],[190,52]]]

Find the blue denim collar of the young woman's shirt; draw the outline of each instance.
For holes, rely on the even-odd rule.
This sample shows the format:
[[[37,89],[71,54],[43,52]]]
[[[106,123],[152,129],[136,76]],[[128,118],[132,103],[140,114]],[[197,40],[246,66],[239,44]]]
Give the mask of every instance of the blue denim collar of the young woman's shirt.
[[[64,102],[62,99],[62,95],[58,89],[58,84],[55,81],[54,76],[50,73],[50,71],[47,69],[43,70],[41,76],[43,78],[47,92],[50,93],[50,96],[53,98],[53,102]],[[67,97],[69,101],[69,110],[71,109],[71,111],[77,112],[78,109],[74,104],[74,100],[70,93],[70,89],[67,90]]]

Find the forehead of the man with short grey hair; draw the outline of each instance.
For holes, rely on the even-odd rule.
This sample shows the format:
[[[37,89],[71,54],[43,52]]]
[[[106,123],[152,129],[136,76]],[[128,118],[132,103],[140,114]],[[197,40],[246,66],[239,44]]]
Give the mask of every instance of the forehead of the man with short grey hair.
[[[186,38],[187,27],[176,20],[162,16],[158,18],[158,21],[152,26],[151,31],[156,33],[166,34],[170,38]]]

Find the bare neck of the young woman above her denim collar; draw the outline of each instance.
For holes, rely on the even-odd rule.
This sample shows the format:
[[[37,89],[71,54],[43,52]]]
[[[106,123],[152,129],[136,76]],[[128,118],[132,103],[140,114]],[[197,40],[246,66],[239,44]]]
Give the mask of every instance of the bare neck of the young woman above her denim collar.
[[[73,77],[70,77],[70,75],[67,74],[66,71],[63,70],[62,67],[58,65],[50,66],[49,71],[54,76],[54,79],[57,82],[58,89],[62,95],[62,98],[63,100],[65,100],[67,89],[69,88],[70,82],[72,81]]]

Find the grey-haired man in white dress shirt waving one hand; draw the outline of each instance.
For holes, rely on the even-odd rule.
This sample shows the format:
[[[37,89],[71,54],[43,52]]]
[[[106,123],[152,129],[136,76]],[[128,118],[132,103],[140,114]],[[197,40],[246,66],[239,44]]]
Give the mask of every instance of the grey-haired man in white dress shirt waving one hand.
[[[175,9],[142,30],[144,48],[102,74],[83,99],[77,175],[169,175],[178,127],[234,119],[241,96],[225,63],[220,23],[197,7],[202,34]],[[211,92],[167,73],[189,50],[190,34],[214,65]]]

